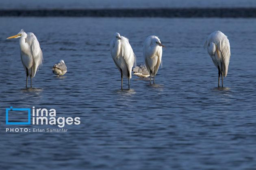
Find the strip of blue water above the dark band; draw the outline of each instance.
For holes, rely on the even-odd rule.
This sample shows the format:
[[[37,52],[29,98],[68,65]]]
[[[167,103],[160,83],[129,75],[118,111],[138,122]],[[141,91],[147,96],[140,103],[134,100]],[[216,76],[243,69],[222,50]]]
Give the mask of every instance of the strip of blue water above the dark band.
[[[255,7],[255,0],[2,0],[0,9]]]

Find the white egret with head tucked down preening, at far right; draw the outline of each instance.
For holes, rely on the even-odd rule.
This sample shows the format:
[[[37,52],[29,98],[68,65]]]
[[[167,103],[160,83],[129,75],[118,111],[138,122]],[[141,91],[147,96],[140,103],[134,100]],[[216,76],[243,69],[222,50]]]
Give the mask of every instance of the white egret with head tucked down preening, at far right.
[[[221,74],[221,82],[223,87],[223,76],[226,77],[228,74],[228,64],[231,55],[228,37],[221,31],[215,31],[208,36],[204,44],[204,48],[207,48],[208,54],[213,60],[213,64],[218,68],[219,77]]]

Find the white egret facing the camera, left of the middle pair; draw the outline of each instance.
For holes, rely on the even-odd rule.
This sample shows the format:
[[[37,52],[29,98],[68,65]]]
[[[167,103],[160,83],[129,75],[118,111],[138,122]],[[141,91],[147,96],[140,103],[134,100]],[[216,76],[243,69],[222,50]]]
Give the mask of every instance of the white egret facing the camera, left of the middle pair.
[[[136,66],[136,56],[129,40],[116,32],[110,43],[110,51],[115,65],[121,72],[121,88],[123,88],[123,77],[125,77],[128,78],[130,89],[130,78],[132,78],[132,67]]]

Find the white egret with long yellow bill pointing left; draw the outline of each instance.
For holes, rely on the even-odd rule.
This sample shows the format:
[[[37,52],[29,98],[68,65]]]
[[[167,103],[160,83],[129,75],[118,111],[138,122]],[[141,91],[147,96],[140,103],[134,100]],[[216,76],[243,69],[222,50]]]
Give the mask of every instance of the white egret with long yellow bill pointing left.
[[[15,36],[10,36],[10,38],[20,38],[20,58],[23,67],[26,71],[26,87],[28,84],[28,76],[30,76],[30,87],[32,87],[32,78],[35,77],[38,66],[42,64],[43,53],[40,48],[37,37],[32,32],[20,32]]]

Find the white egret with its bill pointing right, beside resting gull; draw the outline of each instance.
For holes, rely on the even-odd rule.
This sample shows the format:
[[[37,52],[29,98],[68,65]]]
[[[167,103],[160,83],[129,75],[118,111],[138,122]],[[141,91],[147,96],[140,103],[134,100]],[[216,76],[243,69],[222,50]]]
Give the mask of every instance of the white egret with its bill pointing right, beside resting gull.
[[[143,56],[148,72],[150,73],[150,84],[151,77],[154,76],[154,83],[156,73],[160,64],[162,64],[162,47],[160,39],[157,36],[148,36],[145,39],[143,45]]]

